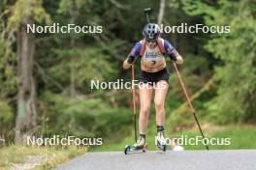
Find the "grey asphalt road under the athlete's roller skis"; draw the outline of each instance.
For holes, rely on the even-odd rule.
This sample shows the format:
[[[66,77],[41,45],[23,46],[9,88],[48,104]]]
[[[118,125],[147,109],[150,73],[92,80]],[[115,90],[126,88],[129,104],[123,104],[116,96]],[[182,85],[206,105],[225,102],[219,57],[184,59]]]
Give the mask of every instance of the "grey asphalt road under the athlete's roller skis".
[[[256,170],[256,150],[88,153],[57,170]]]

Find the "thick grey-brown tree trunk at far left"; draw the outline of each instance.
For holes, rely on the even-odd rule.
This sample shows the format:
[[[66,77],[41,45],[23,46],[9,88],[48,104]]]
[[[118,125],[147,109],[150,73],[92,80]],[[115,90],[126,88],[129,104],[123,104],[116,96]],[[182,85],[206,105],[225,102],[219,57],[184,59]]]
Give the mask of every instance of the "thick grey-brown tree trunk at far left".
[[[16,142],[24,143],[37,126],[36,88],[33,78],[35,36],[26,33],[26,25],[33,20],[25,17],[17,33],[18,94],[16,115]]]

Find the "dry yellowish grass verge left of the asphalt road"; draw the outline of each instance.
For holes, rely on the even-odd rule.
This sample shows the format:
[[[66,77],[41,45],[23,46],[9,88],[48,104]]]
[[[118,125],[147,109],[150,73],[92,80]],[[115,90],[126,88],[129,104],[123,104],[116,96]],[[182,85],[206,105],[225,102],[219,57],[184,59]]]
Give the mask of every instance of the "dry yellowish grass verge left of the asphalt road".
[[[38,147],[10,145],[0,149],[0,169],[10,169],[14,163],[24,163],[27,156],[49,156],[45,164],[38,165],[35,169],[53,169],[57,164],[72,157],[86,153],[86,148],[69,147]]]

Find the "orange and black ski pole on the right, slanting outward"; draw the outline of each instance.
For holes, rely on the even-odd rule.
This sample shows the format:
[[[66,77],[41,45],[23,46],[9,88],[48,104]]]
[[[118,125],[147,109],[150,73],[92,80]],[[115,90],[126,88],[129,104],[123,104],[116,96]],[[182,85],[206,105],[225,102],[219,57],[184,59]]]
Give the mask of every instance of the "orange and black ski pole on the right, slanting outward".
[[[191,103],[191,100],[190,100],[190,98],[189,98],[189,96],[188,96],[188,93],[187,93],[187,91],[186,91],[186,88],[185,88],[185,85],[184,85],[184,83],[183,83],[183,80],[182,80],[182,78],[181,78],[181,76],[180,76],[180,74],[179,74],[179,71],[177,70],[176,63],[173,62],[173,64],[174,64],[174,67],[175,67],[175,70],[176,70],[176,76],[178,77],[179,82],[180,82],[180,84],[181,84],[181,86],[182,86],[183,92],[184,92],[184,94],[185,94],[185,96],[186,96],[186,100],[187,100],[187,102],[188,102],[188,105],[189,105],[189,108],[190,108],[190,112],[194,115],[194,118],[195,118],[195,120],[196,120],[196,122],[197,122],[197,126],[198,126],[198,128],[200,129],[201,135],[202,135],[202,137],[203,137],[204,145],[206,145],[206,144],[205,144],[205,135],[204,135],[203,130],[202,130],[202,128],[201,128],[201,126],[200,126],[200,124],[199,124],[199,121],[198,121],[198,119],[197,119],[196,111],[195,111],[195,109],[194,109],[194,107],[193,107],[193,105],[192,105],[192,103]],[[208,150],[208,145],[206,145],[206,148],[207,148],[207,150]]]

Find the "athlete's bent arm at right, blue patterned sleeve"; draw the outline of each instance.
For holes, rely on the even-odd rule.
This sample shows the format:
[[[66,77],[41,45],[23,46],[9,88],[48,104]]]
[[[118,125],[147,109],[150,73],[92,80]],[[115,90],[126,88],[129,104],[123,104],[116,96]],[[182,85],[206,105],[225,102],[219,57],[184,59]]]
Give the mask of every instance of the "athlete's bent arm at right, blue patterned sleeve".
[[[178,52],[176,51],[176,48],[172,46],[170,42],[165,40],[164,47],[165,47],[165,50],[167,51],[167,55],[170,57],[171,60],[176,62],[176,64],[178,65],[183,63],[183,59],[181,55],[178,54]]]

